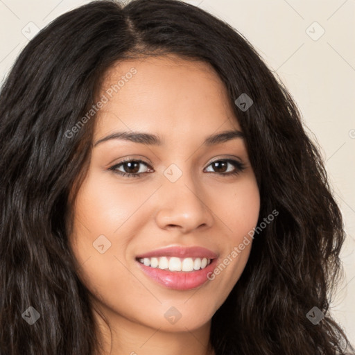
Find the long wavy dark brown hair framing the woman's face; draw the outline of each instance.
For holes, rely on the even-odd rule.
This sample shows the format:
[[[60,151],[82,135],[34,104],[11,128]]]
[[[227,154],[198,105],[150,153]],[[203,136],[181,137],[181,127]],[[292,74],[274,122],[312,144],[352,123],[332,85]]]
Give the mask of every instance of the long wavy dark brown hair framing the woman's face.
[[[69,249],[72,205],[87,171],[104,73],[126,58],[173,53],[216,70],[245,134],[261,197],[241,278],[211,322],[216,355],[345,354],[329,315],[345,240],[318,146],[287,89],[241,33],[177,0],[93,1],[42,29],[0,92],[0,354],[94,354],[89,291]],[[236,98],[246,93],[249,110]],[[73,187],[73,196],[70,191]],[[40,320],[25,321],[33,306]],[[324,318],[306,314],[317,306]],[[33,310],[31,311],[33,312]],[[354,350],[353,347],[351,347]]]

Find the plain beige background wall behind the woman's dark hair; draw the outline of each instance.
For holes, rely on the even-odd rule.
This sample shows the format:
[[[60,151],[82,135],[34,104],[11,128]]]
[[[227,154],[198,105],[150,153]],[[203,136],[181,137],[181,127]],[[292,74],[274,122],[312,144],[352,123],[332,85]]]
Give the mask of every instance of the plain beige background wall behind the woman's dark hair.
[[[0,0],[1,83],[36,28],[87,2]],[[355,345],[355,1],[186,2],[245,35],[286,84],[322,146],[347,231],[342,252],[345,279],[331,312]]]

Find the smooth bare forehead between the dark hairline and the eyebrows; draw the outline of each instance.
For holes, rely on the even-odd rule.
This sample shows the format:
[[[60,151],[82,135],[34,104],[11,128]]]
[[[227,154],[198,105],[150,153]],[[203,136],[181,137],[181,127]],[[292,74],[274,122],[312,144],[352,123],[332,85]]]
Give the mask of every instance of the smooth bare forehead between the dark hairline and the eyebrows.
[[[107,130],[206,134],[237,128],[227,89],[210,64],[174,55],[122,60],[106,73],[96,137]]]

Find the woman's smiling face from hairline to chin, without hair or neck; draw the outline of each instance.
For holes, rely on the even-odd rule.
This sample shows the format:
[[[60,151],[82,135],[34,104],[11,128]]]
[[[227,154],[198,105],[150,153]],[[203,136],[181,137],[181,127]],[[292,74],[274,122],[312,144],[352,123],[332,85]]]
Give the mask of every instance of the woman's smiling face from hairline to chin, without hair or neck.
[[[100,101],[70,236],[80,278],[108,320],[198,329],[241,276],[259,216],[243,137],[205,143],[241,131],[226,89],[208,64],[164,56],[112,67]]]

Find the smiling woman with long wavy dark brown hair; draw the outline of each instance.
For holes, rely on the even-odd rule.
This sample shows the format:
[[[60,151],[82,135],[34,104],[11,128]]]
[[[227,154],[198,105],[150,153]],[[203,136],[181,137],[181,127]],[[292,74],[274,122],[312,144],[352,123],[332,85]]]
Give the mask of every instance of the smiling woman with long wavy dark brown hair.
[[[297,107],[233,28],[97,1],[0,96],[0,354],[344,354],[345,233]]]

